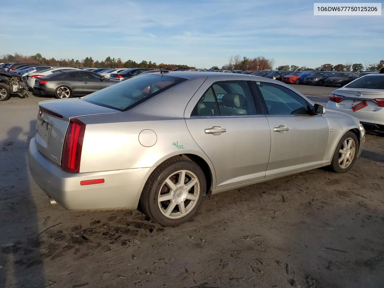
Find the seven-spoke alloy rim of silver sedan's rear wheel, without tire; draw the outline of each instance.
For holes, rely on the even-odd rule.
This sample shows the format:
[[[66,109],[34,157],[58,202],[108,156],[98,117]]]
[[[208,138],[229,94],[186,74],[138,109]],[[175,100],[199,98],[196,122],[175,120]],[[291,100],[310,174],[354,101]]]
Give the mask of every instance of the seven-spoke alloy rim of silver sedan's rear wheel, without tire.
[[[189,170],[179,170],[161,185],[157,202],[161,213],[170,219],[184,217],[199,200],[200,181]]]

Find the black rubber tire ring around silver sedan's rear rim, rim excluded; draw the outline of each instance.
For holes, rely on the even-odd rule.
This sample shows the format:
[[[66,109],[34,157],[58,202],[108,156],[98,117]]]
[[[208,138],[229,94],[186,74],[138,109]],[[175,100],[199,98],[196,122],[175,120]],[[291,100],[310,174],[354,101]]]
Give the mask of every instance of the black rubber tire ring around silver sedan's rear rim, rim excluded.
[[[197,200],[197,203],[191,212],[189,212],[187,215],[185,215],[182,218],[170,219],[161,213],[159,209],[159,204],[157,202],[157,197],[160,193],[162,184],[167,179],[167,177],[169,177],[170,175],[172,175],[173,173],[179,170],[189,170],[197,176],[200,182],[200,194],[199,194],[199,199]],[[203,194],[205,194],[207,189],[207,182],[205,179],[204,172],[197,164],[190,161],[180,161],[164,168],[161,171],[160,177],[154,180],[152,187],[149,187],[149,189],[150,189],[149,203],[148,203],[149,214],[151,214],[154,220],[162,226],[177,226],[189,221],[191,218],[193,218],[197,214],[200,208],[200,205],[202,204],[202,200],[204,197]]]

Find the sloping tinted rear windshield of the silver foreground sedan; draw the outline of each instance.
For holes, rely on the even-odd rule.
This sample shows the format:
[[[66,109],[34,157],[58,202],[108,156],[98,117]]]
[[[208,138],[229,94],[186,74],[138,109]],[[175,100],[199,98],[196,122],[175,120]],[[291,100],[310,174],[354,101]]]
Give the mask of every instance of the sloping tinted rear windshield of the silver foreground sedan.
[[[185,80],[164,74],[149,73],[96,91],[82,100],[119,111],[126,111]]]

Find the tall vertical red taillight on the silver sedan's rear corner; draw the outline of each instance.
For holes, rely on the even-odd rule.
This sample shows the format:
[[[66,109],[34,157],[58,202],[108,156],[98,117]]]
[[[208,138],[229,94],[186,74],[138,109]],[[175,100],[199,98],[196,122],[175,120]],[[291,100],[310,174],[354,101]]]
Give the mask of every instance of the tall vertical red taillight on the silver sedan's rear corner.
[[[66,172],[79,173],[84,132],[85,124],[83,122],[76,118],[70,119],[61,158],[61,169]]]

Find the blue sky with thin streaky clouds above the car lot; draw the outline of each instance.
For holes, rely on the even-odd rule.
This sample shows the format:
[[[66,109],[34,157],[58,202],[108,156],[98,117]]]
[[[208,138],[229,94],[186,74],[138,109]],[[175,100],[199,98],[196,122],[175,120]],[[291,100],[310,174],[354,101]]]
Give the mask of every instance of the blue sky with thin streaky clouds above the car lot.
[[[314,2],[331,1],[2,1],[0,54],[99,61],[111,56],[197,68],[222,66],[231,55],[312,68],[384,59],[384,11],[313,16]]]

